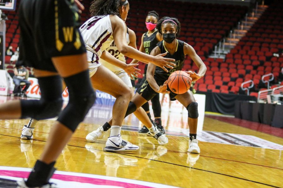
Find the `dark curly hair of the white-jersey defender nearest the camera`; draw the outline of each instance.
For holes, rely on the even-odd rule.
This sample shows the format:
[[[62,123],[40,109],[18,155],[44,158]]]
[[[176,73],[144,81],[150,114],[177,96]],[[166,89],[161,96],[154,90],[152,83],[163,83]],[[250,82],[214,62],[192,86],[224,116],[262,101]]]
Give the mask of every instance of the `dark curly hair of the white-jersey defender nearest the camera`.
[[[89,8],[91,16],[103,15],[117,15],[119,14],[119,7],[125,4],[127,0],[94,0]],[[128,6],[126,3],[124,6]]]

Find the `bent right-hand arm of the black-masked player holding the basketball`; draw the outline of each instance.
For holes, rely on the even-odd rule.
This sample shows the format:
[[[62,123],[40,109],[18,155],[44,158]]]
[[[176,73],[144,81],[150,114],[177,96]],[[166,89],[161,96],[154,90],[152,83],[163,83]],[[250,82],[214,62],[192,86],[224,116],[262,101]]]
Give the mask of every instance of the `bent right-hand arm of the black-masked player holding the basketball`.
[[[203,63],[203,60],[197,55],[193,47],[187,43],[184,43],[184,54],[189,55],[199,69],[198,73],[192,71],[185,72],[190,75],[192,81],[197,81],[198,79],[202,78],[206,72],[206,66]]]

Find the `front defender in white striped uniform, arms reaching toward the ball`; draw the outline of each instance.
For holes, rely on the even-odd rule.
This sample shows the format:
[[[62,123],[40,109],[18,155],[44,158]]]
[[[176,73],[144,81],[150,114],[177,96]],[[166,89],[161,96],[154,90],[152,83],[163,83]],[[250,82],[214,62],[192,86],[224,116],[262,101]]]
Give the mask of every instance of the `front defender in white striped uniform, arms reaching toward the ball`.
[[[138,69],[134,68],[137,64],[127,65],[124,62],[117,60],[105,49],[115,41],[119,52],[128,55],[131,58],[136,58],[142,62],[155,62],[164,70],[167,70],[165,67],[173,68],[171,66],[173,64],[168,62],[172,59],[163,58],[162,55],[156,57],[146,55],[128,46],[126,42],[127,28],[123,20],[126,20],[129,8],[130,5],[128,1],[93,1],[90,7],[92,18],[87,20],[80,27],[87,50],[87,60],[89,62],[92,86],[116,97],[113,107],[112,123],[114,126],[111,127],[110,137],[106,142],[106,151],[131,151],[137,150],[139,147],[122,140],[120,135],[126,108],[130,102],[131,91],[113,72],[100,66],[99,59],[101,58],[124,69],[128,74],[137,74]],[[120,18],[118,16],[120,16]],[[128,67],[129,70],[127,70]],[[150,126],[152,126],[151,123]],[[155,130],[153,130],[153,133],[154,131]]]

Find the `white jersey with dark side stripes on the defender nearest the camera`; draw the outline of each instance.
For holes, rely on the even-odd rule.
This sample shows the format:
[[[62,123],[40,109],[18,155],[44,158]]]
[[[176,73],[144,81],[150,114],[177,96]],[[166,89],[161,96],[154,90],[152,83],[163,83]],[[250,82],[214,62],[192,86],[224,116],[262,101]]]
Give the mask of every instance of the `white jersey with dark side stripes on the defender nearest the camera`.
[[[114,41],[110,16],[95,16],[88,19],[80,27],[80,33],[86,46],[88,67],[100,66],[98,60],[103,49],[107,49]]]

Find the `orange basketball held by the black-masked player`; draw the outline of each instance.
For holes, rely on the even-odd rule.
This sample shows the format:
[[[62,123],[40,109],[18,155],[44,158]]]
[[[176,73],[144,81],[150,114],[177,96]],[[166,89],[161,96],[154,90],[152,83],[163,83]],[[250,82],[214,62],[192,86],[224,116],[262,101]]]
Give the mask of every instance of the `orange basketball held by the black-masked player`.
[[[168,86],[171,91],[177,94],[186,93],[191,87],[190,76],[182,70],[173,72],[168,78]]]

